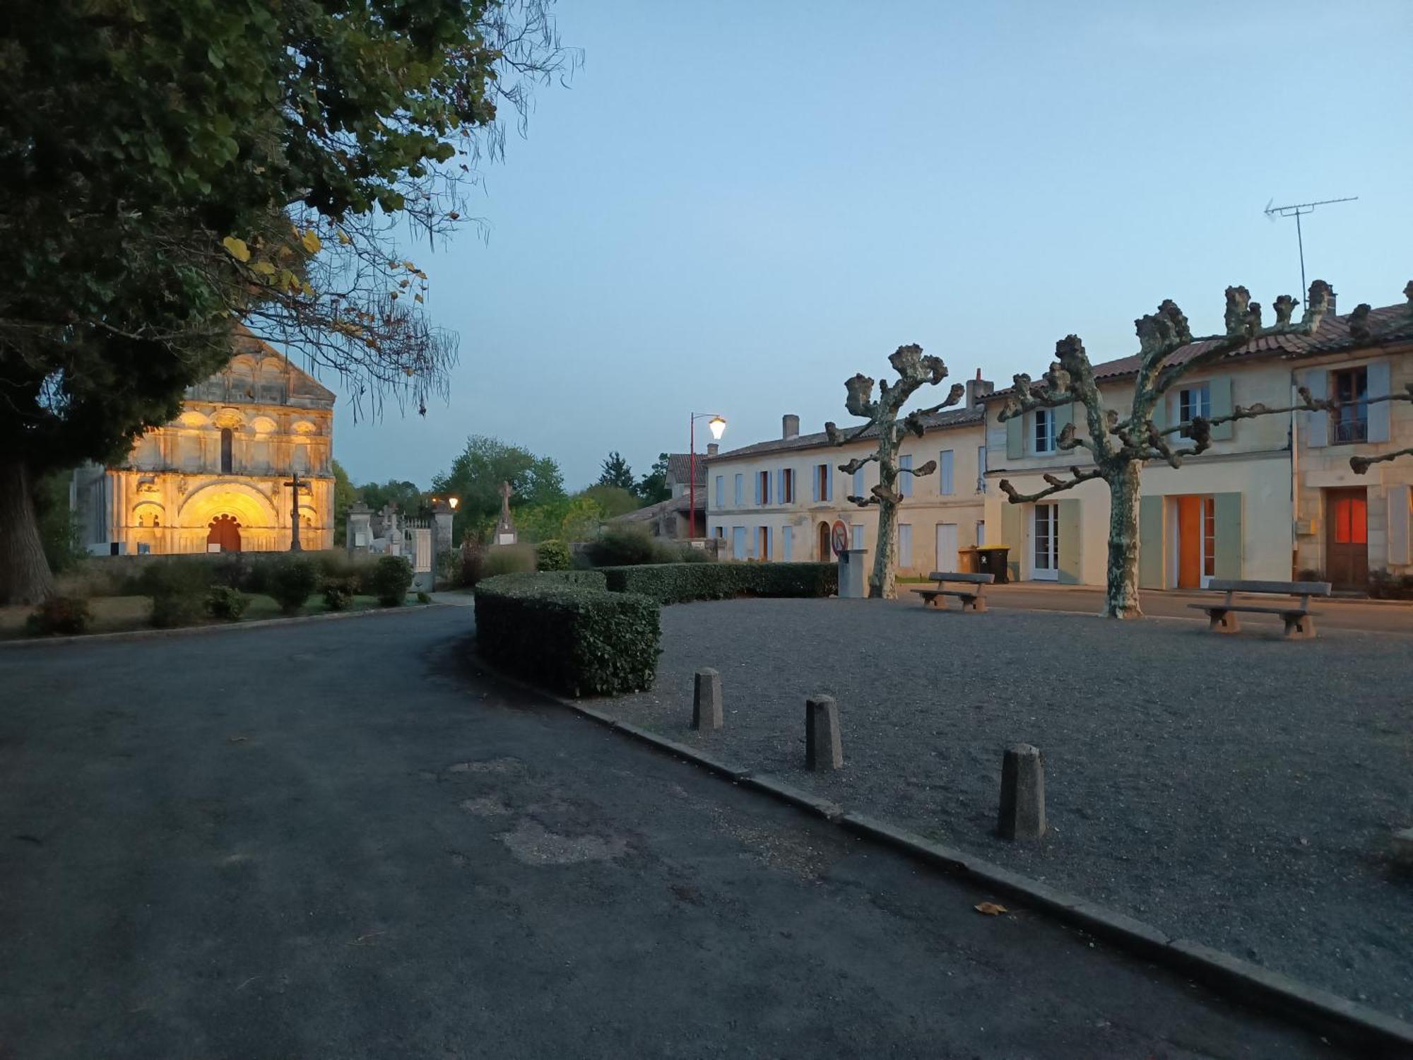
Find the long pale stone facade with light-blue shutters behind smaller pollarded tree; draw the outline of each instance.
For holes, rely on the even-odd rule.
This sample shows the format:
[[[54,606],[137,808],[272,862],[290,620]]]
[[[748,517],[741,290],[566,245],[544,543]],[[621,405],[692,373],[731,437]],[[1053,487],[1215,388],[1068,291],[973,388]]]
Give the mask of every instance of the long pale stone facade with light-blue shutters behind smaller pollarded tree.
[[[986,410],[981,397],[991,383],[968,383],[966,407],[928,417],[921,438],[909,435],[899,449],[903,466],[937,461],[926,476],[901,475],[897,555],[903,575],[958,570],[957,550],[986,537]],[[706,461],[706,533],[723,538],[733,560],[832,560],[835,522],[849,544],[876,547],[877,507],[859,507],[848,496],[869,496],[877,464],[853,475],[839,465],[876,451],[876,434],[831,445],[824,432],[800,434],[800,418],[783,418],[781,437],[709,457]]]

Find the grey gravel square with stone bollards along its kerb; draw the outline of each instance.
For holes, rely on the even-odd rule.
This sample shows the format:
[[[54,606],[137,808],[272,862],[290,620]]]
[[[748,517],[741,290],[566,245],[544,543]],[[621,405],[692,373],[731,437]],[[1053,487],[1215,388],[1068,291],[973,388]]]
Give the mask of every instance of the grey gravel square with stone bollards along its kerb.
[[[605,709],[1154,926],[1413,1019],[1413,643],[911,601],[663,609],[649,693]],[[725,728],[691,729],[692,671]],[[804,769],[804,701],[844,769]],[[995,835],[1000,758],[1046,758],[1050,831]]]

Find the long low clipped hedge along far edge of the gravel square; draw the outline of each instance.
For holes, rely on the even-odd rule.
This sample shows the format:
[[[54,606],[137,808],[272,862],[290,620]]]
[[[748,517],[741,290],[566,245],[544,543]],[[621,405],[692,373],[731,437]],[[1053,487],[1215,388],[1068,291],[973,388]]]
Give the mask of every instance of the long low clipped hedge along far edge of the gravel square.
[[[656,563],[601,568],[612,592],[640,592],[658,603],[733,596],[832,596],[832,563]]]

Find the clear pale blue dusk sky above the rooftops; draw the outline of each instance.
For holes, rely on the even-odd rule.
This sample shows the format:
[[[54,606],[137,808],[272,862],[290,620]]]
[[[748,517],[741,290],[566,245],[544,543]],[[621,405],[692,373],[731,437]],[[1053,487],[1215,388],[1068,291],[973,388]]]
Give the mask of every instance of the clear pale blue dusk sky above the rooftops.
[[[1303,222],[1340,311],[1413,278],[1409,0],[557,10],[584,65],[485,170],[485,239],[417,249],[451,400],[341,401],[355,482],[425,488],[489,434],[578,489],[612,449],[685,452],[694,411],[723,449],[846,424],[844,380],[907,342],[1006,384],[1068,334],[1135,352],[1163,298],[1205,334],[1245,284],[1270,319],[1300,294],[1272,201],[1358,196]]]

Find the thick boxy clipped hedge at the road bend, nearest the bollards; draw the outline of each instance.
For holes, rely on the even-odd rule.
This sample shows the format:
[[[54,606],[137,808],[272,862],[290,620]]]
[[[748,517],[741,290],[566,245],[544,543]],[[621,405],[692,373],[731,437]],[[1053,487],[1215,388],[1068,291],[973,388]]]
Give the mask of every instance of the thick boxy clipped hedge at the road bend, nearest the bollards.
[[[647,688],[658,605],[608,592],[598,571],[507,574],[476,587],[476,649],[492,664],[569,695]]]

